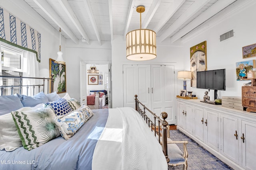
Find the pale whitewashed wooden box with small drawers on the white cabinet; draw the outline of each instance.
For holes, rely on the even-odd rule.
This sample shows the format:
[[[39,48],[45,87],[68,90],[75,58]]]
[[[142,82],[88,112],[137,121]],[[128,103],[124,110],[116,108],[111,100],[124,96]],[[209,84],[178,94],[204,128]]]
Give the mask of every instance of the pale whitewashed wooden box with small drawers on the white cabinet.
[[[242,106],[242,98],[237,96],[222,96],[222,107],[231,109],[244,110]]]

